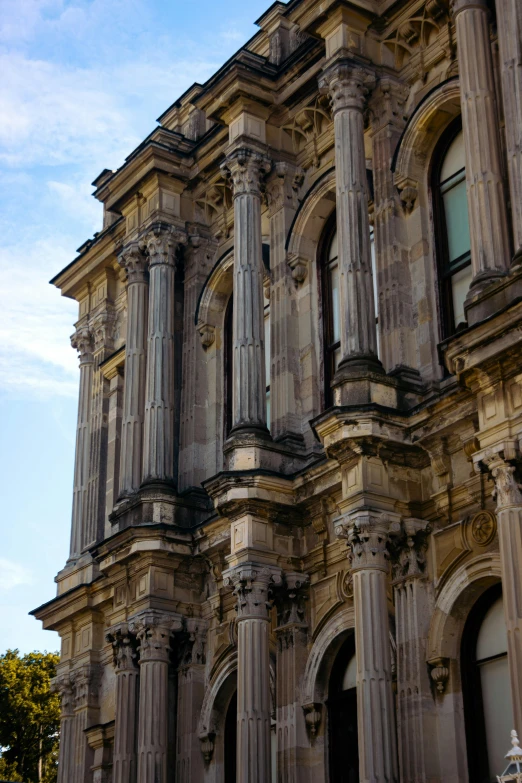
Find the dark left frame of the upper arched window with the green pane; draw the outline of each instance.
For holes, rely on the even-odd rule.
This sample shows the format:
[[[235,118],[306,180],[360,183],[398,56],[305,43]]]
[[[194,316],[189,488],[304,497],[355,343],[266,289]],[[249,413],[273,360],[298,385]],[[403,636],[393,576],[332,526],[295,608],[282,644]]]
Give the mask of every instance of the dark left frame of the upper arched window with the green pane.
[[[440,177],[446,155],[453,141],[462,131],[462,117],[456,117],[444,130],[437,142],[432,156],[432,168],[430,172],[431,184],[431,203],[433,210],[433,227],[435,236],[435,255],[437,262],[437,278],[439,291],[439,322],[441,326],[441,338],[443,340],[456,334],[458,324],[455,324],[455,311],[453,307],[453,289],[452,278],[458,272],[471,265],[471,253],[469,260],[463,261],[461,256],[456,262],[453,262],[453,268],[450,260],[448,228],[446,224],[446,211],[444,208],[443,185]],[[459,171],[464,170],[460,169]],[[456,176],[458,172],[453,174]],[[460,263],[459,263],[460,261]],[[455,267],[455,264],[457,266]]]

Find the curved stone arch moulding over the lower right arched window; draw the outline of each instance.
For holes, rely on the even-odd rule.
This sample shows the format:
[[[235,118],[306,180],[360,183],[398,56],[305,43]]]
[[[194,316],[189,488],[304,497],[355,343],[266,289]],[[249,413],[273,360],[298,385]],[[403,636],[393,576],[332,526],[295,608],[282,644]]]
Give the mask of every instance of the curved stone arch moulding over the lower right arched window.
[[[428,637],[428,661],[457,660],[467,616],[482,593],[501,580],[497,552],[464,563],[438,595]]]

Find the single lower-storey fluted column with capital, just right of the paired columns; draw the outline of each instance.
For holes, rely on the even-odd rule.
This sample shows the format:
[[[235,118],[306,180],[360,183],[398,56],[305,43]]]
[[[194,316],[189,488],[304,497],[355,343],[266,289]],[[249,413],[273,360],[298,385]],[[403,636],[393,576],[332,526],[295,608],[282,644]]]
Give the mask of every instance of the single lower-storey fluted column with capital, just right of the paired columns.
[[[237,599],[237,779],[267,783],[270,754],[270,591],[279,569],[245,563],[223,574]]]

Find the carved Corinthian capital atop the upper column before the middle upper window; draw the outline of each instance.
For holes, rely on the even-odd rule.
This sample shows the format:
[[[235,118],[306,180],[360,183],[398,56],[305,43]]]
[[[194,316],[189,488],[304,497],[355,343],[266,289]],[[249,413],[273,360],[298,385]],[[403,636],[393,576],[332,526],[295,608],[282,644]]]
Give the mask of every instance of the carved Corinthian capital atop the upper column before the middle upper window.
[[[362,112],[374,84],[373,74],[358,63],[344,59],[327,66],[319,78],[319,89],[329,95],[334,114],[342,109]]]

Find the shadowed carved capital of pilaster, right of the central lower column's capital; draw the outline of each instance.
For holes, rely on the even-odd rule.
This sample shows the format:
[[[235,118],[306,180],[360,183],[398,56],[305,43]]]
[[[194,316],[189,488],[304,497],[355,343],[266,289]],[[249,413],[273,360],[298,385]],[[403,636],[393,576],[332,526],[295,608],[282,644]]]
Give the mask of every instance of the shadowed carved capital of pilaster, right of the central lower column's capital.
[[[411,517],[390,525],[389,553],[395,581],[402,582],[424,574],[430,531],[429,522]]]

